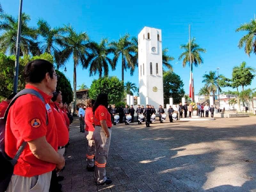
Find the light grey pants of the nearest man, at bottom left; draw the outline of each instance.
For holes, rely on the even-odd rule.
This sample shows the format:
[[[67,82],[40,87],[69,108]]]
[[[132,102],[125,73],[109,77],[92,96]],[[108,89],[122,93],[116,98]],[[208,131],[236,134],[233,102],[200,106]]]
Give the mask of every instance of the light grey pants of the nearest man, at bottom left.
[[[12,175],[6,192],[49,192],[51,177],[51,171],[34,177]]]

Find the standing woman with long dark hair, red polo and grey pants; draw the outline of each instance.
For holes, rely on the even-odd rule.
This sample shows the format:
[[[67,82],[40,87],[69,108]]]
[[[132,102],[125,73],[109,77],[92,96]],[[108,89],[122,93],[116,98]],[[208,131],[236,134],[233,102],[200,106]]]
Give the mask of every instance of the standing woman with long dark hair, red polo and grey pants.
[[[111,116],[108,113],[108,95],[99,94],[92,107],[94,114],[95,130],[93,137],[95,140],[95,179],[97,185],[110,184],[112,181],[106,177],[106,164],[108,159],[108,150],[111,139]]]

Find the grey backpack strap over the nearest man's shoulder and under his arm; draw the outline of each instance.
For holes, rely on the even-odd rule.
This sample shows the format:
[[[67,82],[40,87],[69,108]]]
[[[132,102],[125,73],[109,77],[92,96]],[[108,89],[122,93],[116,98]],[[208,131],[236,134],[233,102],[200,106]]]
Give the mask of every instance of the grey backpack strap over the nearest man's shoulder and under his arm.
[[[7,115],[8,115],[8,112],[11,108],[11,106],[14,104],[14,102],[16,101],[16,99],[18,99],[20,96],[22,95],[26,95],[26,94],[31,94],[31,95],[35,95],[36,97],[38,97],[40,100],[42,100],[42,102],[45,104],[45,100],[44,100],[44,97],[39,93],[37,92],[36,90],[34,89],[23,89],[21,90],[20,92],[18,92],[12,99],[12,101],[10,102],[10,104],[8,105],[5,113],[4,113],[4,120],[6,121],[7,119]],[[47,115],[47,111],[46,111],[46,125],[48,125],[48,115]],[[23,141],[21,146],[19,147],[17,153],[15,154],[14,158],[12,160],[10,160],[11,164],[14,166],[16,163],[17,163],[17,160],[19,159],[20,157],[20,154],[23,152],[23,150],[25,149],[27,145],[27,142],[26,141]]]

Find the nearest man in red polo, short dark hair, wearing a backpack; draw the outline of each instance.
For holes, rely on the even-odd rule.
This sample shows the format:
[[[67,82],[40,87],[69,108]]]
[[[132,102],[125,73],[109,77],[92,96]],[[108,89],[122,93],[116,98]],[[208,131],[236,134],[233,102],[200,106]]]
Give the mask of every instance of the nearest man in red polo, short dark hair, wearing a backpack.
[[[58,138],[52,108],[48,104],[55,91],[57,75],[46,60],[33,60],[25,69],[27,89],[39,92],[45,104],[34,95],[20,96],[10,108],[5,127],[5,152],[14,157],[27,141],[7,188],[7,192],[48,192],[52,170],[61,170],[65,159],[57,153]],[[46,114],[48,124],[46,123]]]

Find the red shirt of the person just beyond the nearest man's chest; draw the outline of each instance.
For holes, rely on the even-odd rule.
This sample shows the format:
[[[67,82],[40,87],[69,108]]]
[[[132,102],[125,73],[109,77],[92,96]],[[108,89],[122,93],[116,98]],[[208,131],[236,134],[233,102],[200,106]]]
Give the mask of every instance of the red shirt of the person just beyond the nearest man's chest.
[[[69,137],[68,128],[61,116],[62,112],[60,111],[60,109],[58,108],[59,109],[58,111],[58,109],[56,108],[53,102],[50,103],[50,106],[52,108],[53,115],[55,118],[57,135],[58,135],[58,146],[62,147],[68,143],[68,137]]]

